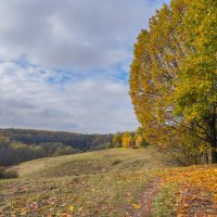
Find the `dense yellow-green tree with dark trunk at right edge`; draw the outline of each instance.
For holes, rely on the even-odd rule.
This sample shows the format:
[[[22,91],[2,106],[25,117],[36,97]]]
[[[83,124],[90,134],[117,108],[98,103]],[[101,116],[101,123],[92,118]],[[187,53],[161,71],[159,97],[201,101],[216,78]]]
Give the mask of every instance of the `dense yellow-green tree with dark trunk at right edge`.
[[[195,0],[184,16],[186,48],[175,82],[174,114],[212,148],[217,163],[217,1]]]

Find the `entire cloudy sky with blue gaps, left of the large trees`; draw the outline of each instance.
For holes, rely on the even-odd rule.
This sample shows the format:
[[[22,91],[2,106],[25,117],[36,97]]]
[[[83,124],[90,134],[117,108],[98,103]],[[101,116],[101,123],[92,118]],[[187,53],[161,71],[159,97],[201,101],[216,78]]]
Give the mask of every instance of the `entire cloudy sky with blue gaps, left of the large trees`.
[[[0,127],[133,131],[133,43],[168,0],[0,0]]]

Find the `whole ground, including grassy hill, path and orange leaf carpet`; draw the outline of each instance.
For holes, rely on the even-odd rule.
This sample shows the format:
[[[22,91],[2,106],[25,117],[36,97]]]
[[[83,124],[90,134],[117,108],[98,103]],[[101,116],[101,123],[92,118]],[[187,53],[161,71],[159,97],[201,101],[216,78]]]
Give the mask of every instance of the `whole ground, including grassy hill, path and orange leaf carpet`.
[[[154,148],[51,157],[0,181],[0,216],[217,216],[217,167],[168,166]]]

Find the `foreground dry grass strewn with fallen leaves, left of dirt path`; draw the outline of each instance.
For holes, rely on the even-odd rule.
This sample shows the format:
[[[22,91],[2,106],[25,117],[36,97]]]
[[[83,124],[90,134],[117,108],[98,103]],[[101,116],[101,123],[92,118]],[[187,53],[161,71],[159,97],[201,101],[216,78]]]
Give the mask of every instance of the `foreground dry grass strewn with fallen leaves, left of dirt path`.
[[[146,171],[0,181],[0,216],[129,216]]]

